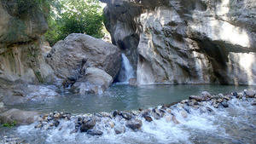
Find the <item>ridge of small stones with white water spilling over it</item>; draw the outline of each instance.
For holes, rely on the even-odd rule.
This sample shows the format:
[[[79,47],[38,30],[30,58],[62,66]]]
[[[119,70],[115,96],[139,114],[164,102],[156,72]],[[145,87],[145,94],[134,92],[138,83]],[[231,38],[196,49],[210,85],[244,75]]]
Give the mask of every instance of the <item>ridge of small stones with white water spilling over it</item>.
[[[49,112],[14,133],[29,143],[255,143],[255,98],[254,90],[230,95],[204,91],[189,100],[137,111]]]

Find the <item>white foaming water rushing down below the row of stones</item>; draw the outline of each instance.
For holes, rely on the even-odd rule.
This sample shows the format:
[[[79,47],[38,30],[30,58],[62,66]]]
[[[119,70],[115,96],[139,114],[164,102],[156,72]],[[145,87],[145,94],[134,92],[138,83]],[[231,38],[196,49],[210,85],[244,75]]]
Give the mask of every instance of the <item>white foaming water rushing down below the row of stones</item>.
[[[126,128],[126,132],[116,135],[114,130],[108,126],[111,120],[115,125],[125,125],[125,119],[101,118],[97,122],[96,129],[102,130],[102,136],[91,136],[85,133],[70,134],[74,130],[74,118],[71,121],[61,120],[61,124],[54,130],[36,130],[34,125],[20,126],[17,130],[20,137],[24,137],[30,143],[36,139],[42,139],[42,143],[222,143],[229,141],[251,143],[240,133],[240,127],[255,128],[253,121],[256,119],[256,107],[252,106],[250,100],[229,101],[228,108],[214,108],[210,102],[204,102],[198,109],[189,107],[187,118],[181,114],[186,108],[181,104],[171,107],[172,113],[166,112],[164,118],[153,122],[147,122],[144,118],[137,117],[143,121],[141,130],[134,132]],[[212,112],[208,112],[211,108]],[[187,109],[188,111],[188,109]],[[167,122],[166,117],[175,115],[180,124],[172,121]],[[250,117],[250,118],[248,118]],[[255,121],[254,121],[255,122]],[[239,135],[236,135],[236,131]],[[230,131],[231,130],[231,131]],[[255,130],[254,130],[255,132]],[[253,136],[253,133],[249,133]],[[239,137],[241,135],[241,137]],[[253,138],[253,137],[251,137]],[[252,140],[253,141],[253,140]],[[38,141],[36,141],[38,142]],[[39,142],[40,143],[40,142]]]

